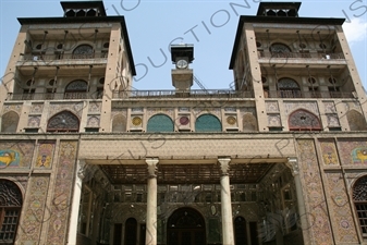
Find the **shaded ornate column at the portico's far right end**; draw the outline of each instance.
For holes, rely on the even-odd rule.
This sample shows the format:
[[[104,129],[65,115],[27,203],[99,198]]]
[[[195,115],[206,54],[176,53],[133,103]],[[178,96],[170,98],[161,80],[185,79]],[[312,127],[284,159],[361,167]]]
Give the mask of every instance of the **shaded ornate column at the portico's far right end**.
[[[305,200],[303,198],[302,183],[301,183],[301,177],[299,177],[298,161],[296,158],[288,158],[288,162],[285,164],[286,167],[291,169],[292,175],[294,177],[295,191],[297,195],[298,212],[299,212],[299,219],[301,219],[301,228],[303,231],[306,231],[307,230],[307,217],[306,217]]]

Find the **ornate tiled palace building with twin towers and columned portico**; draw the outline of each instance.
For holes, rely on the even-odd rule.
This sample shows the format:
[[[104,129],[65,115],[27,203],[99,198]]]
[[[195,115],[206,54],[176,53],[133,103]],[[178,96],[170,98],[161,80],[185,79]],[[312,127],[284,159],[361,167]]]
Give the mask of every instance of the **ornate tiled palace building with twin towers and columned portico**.
[[[233,30],[232,89],[191,89],[194,46],[176,44],[173,88],[136,90],[125,19],[61,5],[19,19],[0,87],[0,244],[367,244],[344,19],[260,2]]]

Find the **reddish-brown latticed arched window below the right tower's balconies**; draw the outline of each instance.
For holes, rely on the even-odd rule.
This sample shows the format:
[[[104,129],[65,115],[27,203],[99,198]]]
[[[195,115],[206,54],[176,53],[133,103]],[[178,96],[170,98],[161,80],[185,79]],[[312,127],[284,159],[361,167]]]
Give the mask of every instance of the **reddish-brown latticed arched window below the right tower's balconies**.
[[[290,114],[289,118],[290,131],[320,131],[321,122],[313,113],[299,109]]]

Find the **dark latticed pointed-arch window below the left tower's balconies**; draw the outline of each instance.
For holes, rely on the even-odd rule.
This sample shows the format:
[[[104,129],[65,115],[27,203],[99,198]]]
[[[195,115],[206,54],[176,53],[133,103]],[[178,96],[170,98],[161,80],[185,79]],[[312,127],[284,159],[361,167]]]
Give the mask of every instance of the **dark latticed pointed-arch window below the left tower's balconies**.
[[[53,115],[47,124],[47,132],[78,132],[79,119],[70,111]]]

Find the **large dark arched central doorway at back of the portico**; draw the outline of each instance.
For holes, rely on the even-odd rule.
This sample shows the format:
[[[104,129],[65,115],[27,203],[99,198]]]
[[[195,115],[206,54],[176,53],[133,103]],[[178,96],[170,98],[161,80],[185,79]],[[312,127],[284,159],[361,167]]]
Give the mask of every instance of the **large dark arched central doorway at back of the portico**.
[[[206,229],[203,216],[193,208],[180,208],[168,219],[168,245],[205,245]]]

